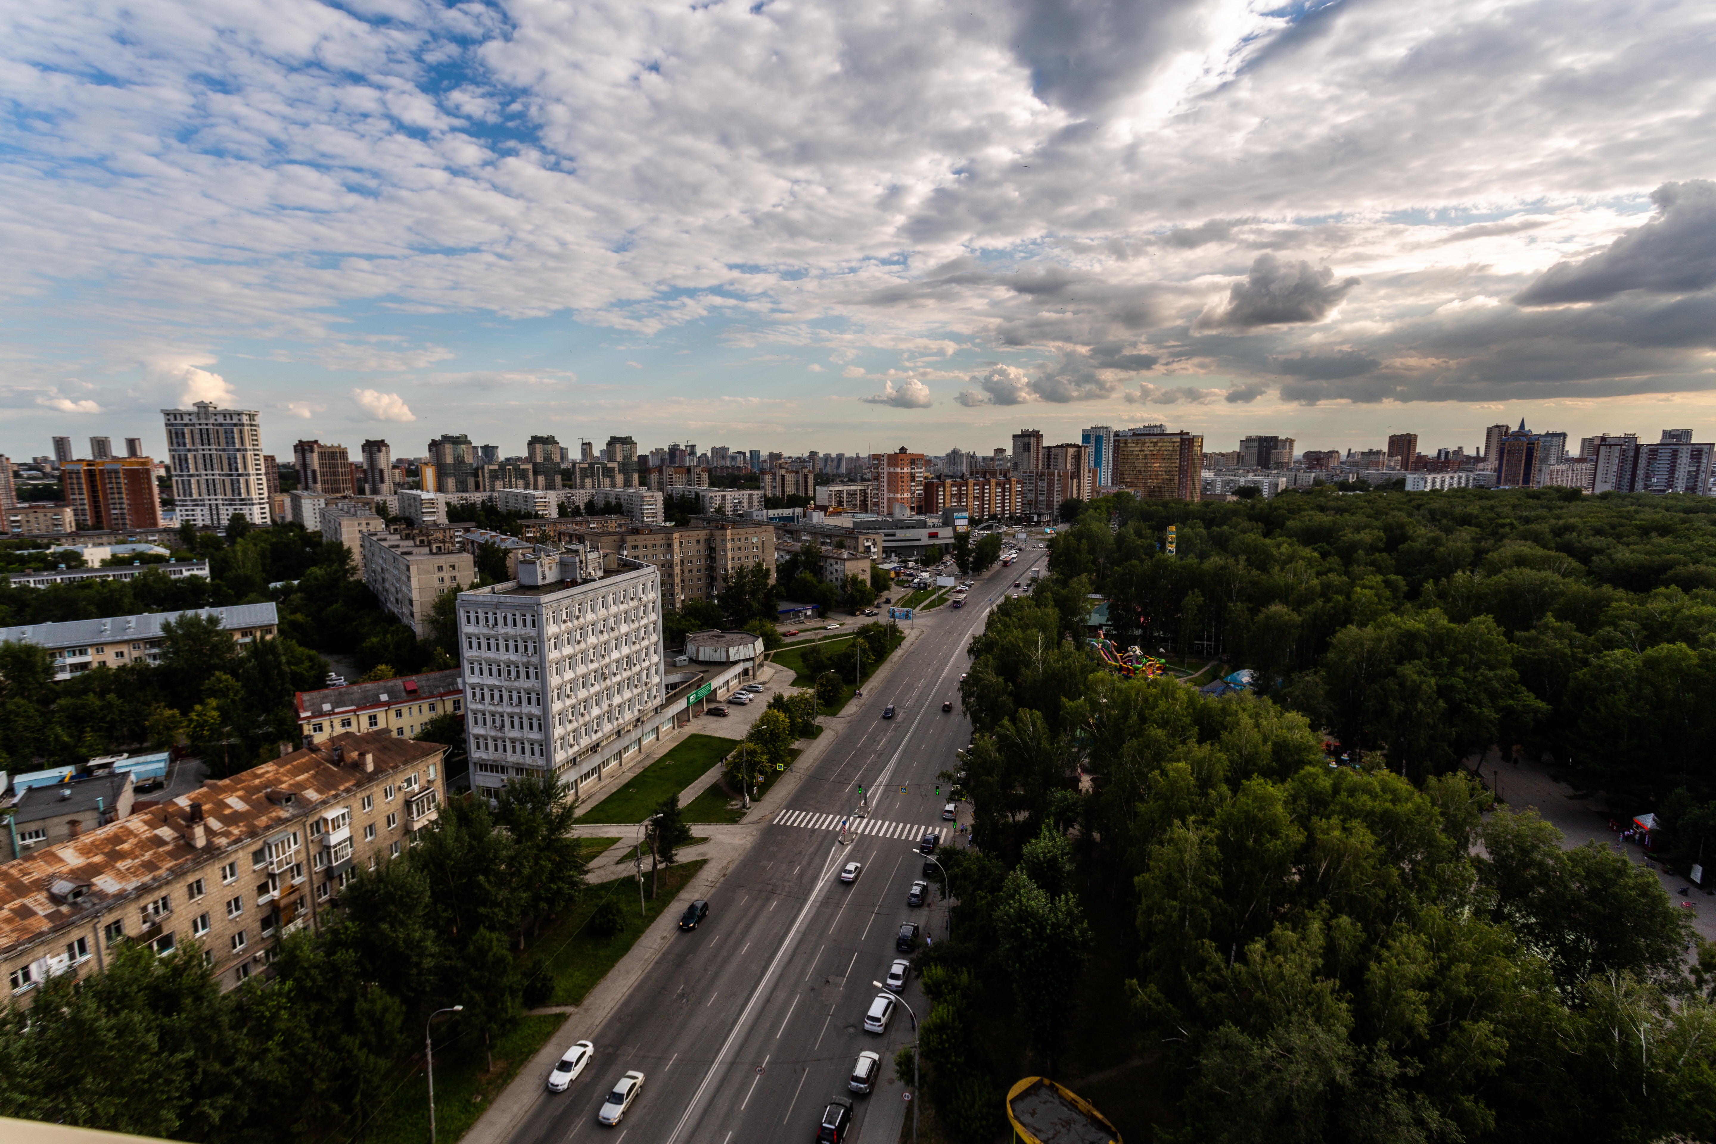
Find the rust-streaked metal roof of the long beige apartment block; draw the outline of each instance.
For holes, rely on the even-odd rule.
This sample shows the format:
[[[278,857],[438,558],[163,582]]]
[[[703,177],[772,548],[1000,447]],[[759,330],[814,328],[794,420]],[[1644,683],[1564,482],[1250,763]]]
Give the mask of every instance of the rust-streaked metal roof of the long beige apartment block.
[[[247,854],[280,827],[304,822],[388,774],[429,763],[444,750],[439,743],[400,739],[386,731],[340,734],[0,864],[0,957],[10,957],[60,926],[82,924],[94,911],[129,900],[218,854],[240,849]],[[374,772],[364,770],[366,753],[374,760]],[[269,792],[293,798],[283,804],[271,801]],[[208,839],[202,849],[184,837],[192,803],[202,804]],[[88,885],[89,892],[76,902],[62,902],[50,894],[57,882]]]

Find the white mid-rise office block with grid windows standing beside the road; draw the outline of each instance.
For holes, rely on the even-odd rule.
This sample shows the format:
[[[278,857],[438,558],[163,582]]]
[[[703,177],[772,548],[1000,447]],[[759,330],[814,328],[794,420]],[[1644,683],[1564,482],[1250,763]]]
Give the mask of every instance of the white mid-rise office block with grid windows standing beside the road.
[[[518,578],[462,592],[472,784],[553,774],[573,792],[673,726],[662,713],[661,573],[539,545]]]

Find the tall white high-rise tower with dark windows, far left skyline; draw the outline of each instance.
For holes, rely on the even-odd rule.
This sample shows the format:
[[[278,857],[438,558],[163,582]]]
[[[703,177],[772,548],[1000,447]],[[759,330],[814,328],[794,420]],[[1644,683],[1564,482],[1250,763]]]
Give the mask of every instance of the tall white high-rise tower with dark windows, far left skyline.
[[[161,417],[180,523],[223,528],[233,515],[269,523],[256,410],[197,401],[189,410],[161,410]]]

